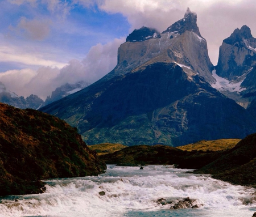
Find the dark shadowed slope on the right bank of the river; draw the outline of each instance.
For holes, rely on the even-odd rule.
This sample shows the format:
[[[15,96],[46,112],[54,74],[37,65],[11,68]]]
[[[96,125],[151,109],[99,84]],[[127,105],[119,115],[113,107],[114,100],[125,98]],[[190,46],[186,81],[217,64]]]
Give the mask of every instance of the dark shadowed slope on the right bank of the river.
[[[196,171],[233,184],[256,187],[256,134],[248,135],[234,148],[212,163]]]

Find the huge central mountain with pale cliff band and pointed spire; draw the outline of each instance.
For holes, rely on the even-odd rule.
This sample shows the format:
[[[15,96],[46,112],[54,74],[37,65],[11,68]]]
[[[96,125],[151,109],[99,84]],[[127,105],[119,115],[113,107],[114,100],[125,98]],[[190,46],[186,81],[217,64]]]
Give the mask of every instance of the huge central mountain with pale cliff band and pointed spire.
[[[253,133],[254,117],[210,86],[214,67],[196,19],[188,8],[160,34],[135,29],[113,71],[40,110],[76,126],[88,144],[181,146]]]

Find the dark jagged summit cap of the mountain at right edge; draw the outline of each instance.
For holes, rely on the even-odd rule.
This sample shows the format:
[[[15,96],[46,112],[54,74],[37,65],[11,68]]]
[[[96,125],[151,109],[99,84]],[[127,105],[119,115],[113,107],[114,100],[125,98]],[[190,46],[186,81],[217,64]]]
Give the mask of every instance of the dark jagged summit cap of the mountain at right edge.
[[[236,28],[234,32],[226,39],[223,40],[226,44],[235,44],[236,42],[240,42],[243,39],[251,39],[253,36],[251,35],[251,29],[247,27],[247,25],[243,25],[241,29]]]

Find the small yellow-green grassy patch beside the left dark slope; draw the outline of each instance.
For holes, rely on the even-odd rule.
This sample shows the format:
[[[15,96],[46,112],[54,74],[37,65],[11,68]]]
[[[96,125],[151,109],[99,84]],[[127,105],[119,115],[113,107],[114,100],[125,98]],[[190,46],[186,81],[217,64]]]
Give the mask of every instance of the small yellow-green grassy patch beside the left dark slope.
[[[94,144],[93,146],[88,146],[90,149],[97,152],[98,155],[105,155],[109,153],[113,153],[115,151],[119,151],[127,146],[123,144],[115,144],[115,143],[102,143],[102,144]]]

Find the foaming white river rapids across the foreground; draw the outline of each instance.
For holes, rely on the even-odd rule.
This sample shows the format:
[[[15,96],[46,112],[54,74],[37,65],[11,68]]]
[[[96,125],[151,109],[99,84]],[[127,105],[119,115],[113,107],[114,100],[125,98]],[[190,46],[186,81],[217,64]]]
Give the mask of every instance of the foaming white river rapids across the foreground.
[[[108,165],[98,177],[47,180],[44,194],[0,198],[0,217],[97,216],[232,216],[251,217],[256,211],[255,189],[230,185],[208,175],[150,165]],[[104,191],[101,196],[98,193]],[[170,210],[159,198],[198,199],[199,209]],[[15,199],[18,201],[15,202]]]

